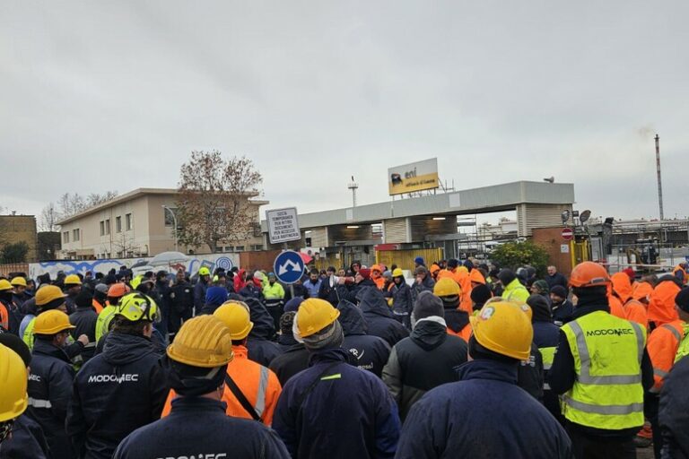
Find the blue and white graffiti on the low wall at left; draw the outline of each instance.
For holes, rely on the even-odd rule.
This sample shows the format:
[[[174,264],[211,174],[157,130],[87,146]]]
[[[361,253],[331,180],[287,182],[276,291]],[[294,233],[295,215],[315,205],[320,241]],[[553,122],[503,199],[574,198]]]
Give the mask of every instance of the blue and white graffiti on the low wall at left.
[[[238,254],[188,255],[185,259],[174,260],[171,263],[156,263],[153,261],[153,258],[57,260],[29,264],[29,276],[31,279],[36,279],[41,274],[49,273],[50,277],[55,279],[60,271],[65,274],[84,274],[87,271],[107,274],[111,269],[118,271],[120,266],[126,266],[135,275],[143,274],[146,271],[156,272],[160,270],[172,273],[179,268],[184,268],[187,273],[193,275],[203,266],[213,272],[216,267],[229,271],[232,267],[239,267],[239,265],[240,255]]]

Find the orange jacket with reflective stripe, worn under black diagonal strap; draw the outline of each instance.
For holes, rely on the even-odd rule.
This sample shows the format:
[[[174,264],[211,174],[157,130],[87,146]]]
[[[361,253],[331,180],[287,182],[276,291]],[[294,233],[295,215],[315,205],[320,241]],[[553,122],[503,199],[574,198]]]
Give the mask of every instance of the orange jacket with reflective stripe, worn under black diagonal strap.
[[[232,351],[234,351],[234,359],[227,366],[227,374],[230,375],[240,388],[241,393],[254,407],[261,421],[266,426],[270,426],[273,424],[273,413],[275,406],[277,406],[277,399],[283,391],[280,381],[272,370],[249,360],[246,347],[232,346]],[[175,391],[170,390],[168,400],[162,409],[161,418],[170,414],[171,403],[175,397],[177,397]],[[227,385],[222,392],[222,402],[227,404],[225,412],[228,416],[253,420],[253,417],[241,406]]]

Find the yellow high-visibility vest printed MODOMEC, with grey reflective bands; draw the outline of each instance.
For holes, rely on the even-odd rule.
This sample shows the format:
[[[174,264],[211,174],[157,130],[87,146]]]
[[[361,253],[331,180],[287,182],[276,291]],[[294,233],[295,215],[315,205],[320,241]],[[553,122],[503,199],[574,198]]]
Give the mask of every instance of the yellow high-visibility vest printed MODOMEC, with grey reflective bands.
[[[563,325],[561,330],[570,344],[577,374],[574,385],[563,395],[564,417],[597,429],[641,427],[641,358],[646,329],[596,311]]]

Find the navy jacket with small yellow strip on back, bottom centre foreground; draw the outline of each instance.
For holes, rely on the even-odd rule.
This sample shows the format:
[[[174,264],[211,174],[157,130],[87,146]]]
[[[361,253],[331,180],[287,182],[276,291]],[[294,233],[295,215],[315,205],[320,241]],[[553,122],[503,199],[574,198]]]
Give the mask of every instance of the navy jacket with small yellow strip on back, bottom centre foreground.
[[[292,457],[395,455],[399,438],[395,401],[378,377],[354,368],[348,359],[349,352],[341,348],[315,351],[310,368],[284,385],[273,429]]]

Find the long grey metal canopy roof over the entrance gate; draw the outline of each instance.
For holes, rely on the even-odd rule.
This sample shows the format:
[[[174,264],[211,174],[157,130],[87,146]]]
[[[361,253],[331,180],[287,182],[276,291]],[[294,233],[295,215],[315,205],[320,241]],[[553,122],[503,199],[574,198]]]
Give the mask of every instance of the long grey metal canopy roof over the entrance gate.
[[[569,183],[513,182],[439,195],[299,214],[301,230],[331,225],[376,223],[402,217],[510,211],[518,204],[574,204]],[[267,231],[266,221],[261,230]]]

